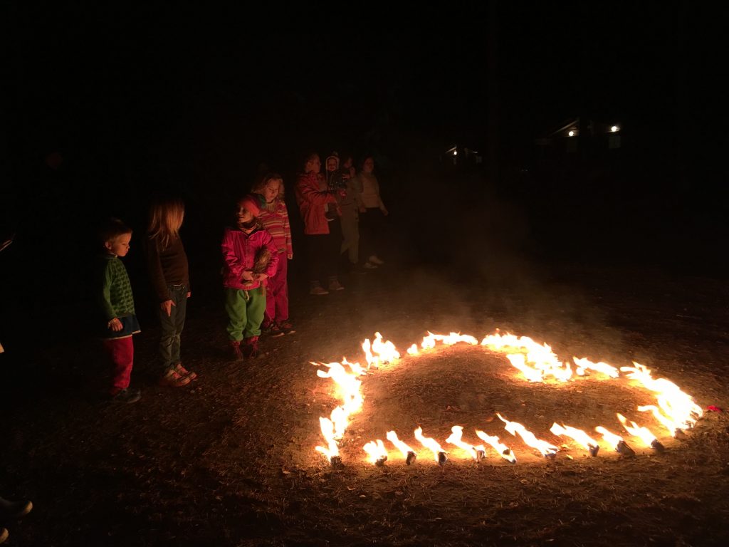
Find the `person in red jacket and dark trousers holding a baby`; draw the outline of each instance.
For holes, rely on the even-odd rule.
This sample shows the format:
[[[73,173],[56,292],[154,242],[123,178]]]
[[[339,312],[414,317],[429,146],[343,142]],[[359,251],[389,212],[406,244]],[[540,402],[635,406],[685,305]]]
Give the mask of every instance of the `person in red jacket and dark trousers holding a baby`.
[[[329,290],[344,289],[337,274],[342,243],[339,206],[320,171],[319,155],[310,154],[305,159],[304,172],[296,181],[296,200],[304,221],[308,251],[310,295],[329,294],[321,287],[321,274],[327,277]]]

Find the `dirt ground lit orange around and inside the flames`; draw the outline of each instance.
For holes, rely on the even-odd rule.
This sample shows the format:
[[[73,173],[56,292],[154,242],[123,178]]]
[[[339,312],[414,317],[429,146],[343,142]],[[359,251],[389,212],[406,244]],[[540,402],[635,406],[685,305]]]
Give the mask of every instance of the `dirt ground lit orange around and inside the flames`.
[[[515,268],[525,271],[524,268]],[[0,484],[35,508],[9,522],[11,546],[725,546],[729,544],[729,419],[707,412],[674,440],[636,412],[650,401],[625,381],[534,385],[499,354],[453,346],[404,358],[363,379],[333,468],[314,447],[319,416],[337,404],[314,362],[346,356],[375,331],[404,353],[427,330],[529,335],[612,365],[647,365],[702,408],[729,411],[729,287],[722,280],[636,268],[529,268],[456,281],[396,269],[344,278],[347,290],[310,297],[292,287],[297,332],[262,341],[251,362],[227,360],[217,292],[198,290],[184,331],[190,387],[156,387],[152,319],[136,338],[139,403],[95,397],[103,366],[90,344],[37,352],[13,376],[4,415]],[[198,276],[199,279],[199,276]],[[205,286],[205,283],[198,282]],[[214,279],[211,276],[211,284]],[[6,343],[7,346],[7,343]],[[6,347],[6,350],[9,350]],[[7,377],[7,376],[6,376]],[[7,385],[6,385],[7,388]],[[8,391],[6,389],[6,391]],[[564,445],[538,457],[495,412]],[[622,432],[620,411],[659,433],[666,451],[589,457],[552,422]],[[418,425],[443,446],[450,427],[499,435],[518,462],[490,451],[475,462],[448,446],[437,465],[413,440]],[[362,445],[394,428],[418,448],[381,467]],[[391,447],[390,447],[391,448]],[[572,459],[570,457],[572,457]]]

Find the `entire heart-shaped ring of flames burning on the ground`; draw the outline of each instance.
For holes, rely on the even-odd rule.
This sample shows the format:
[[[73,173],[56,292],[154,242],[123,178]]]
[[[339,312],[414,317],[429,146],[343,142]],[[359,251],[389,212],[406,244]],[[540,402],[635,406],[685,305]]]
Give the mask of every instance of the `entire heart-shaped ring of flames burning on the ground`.
[[[668,430],[671,436],[674,437],[693,429],[698,419],[703,415],[701,407],[694,402],[693,397],[683,392],[674,382],[668,379],[653,378],[650,369],[644,365],[633,362],[633,366],[616,368],[606,362],[593,362],[586,357],[572,357],[572,363],[563,362],[550,346],[537,344],[528,336],[515,336],[497,332],[487,335],[479,342],[471,335],[428,333],[423,338],[419,348],[416,344],[413,344],[408,348],[407,355],[402,358],[414,357],[422,352],[434,349],[438,344],[441,346],[469,344],[471,346],[482,346],[491,352],[505,354],[511,365],[520,371],[523,379],[531,382],[582,381],[597,375],[609,380],[629,379],[636,381],[647,392],[655,395],[656,403],[655,405],[638,406],[637,410],[650,413],[653,419],[658,422],[658,425]],[[316,375],[334,381],[342,398],[342,403],[332,410],[328,418],[324,416],[319,418],[324,445],[316,446],[316,450],[324,454],[332,464],[341,463],[339,441],[346,432],[349,416],[359,412],[364,403],[364,398],[359,391],[362,386],[360,377],[371,373],[370,371],[376,370],[384,364],[397,365],[401,360],[400,353],[394,344],[390,341],[383,341],[380,333],[375,333],[375,338],[371,343],[369,338],[365,339],[362,343],[362,350],[367,367],[362,367],[359,362],[348,362],[346,358],[343,358],[341,362],[311,363],[312,365],[324,367],[319,368]],[[663,445],[648,427],[636,424],[636,422],[628,420],[620,413],[616,414],[623,425],[623,429],[631,438],[638,439],[644,446],[650,446],[658,450],[663,449]],[[555,457],[555,454],[558,453],[558,446],[537,438],[537,435],[527,430],[522,424],[510,422],[501,414],[496,414],[496,416],[504,422],[504,429],[507,432],[510,432],[511,435],[519,435],[524,443],[537,449],[543,456]],[[621,435],[601,425],[597,425],[594,430],[601,435],[601,441],[613,450],[621,454],[634,454],[634,451]],[[596,456],[599,451],[600,441],[597,441],[594,435],[590,435],[583,430],[555,422],[550,428],[550,432],[554,435],[571,438],[582,448],[588,450],[592,456]],[[440,465],[445,464],[448,459],[448,451],[443,449],[438,441],[426,437],[421,427],[418,427],[413,435],[424,449],[433,454],[436,462]],[[514,452],[499,439],[499,436],[488,435],[482,430],[475,430],[475,435],[491,446],[493,451],[500,457],[512,463],[516,462]],[[477,445],[466,443],[463,441],[462,436],[463,427],[454,425],[451,428],[451,435],[445,439],[445,443],[465,449],[476,461],[480,461],[480,459],[491,453],[491,451],[486,450],[482,443]],[[402,454],[408,465],[415,461],[418,451],[400,440],[397,432],[394,430],[387,432],[386,439]],[[367,442],[362,449],[367,454],[367,459],[375,465],[383,465],[388,459],[388,450],[381,439]]]

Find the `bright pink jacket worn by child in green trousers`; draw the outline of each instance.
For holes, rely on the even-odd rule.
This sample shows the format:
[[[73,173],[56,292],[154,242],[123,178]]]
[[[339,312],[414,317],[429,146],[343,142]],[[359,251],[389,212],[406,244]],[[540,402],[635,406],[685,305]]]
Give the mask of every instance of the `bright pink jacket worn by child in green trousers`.
[[[278,268],[278,252],[273,244],[273,237],[263,228],[255,228],[251,233],[245,233],[238,228],[225,228],[222,241],[223,260],[223,287],[228,289],[251,290],[265,285],[265,281],[242,281],[241,276],[246,270],[252,270],[257,252],[267,247],[270,252],[270,262],[265,274],[273,277]]]

